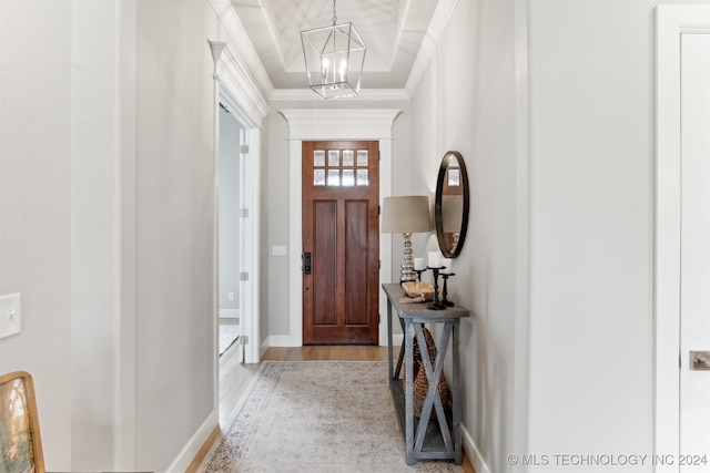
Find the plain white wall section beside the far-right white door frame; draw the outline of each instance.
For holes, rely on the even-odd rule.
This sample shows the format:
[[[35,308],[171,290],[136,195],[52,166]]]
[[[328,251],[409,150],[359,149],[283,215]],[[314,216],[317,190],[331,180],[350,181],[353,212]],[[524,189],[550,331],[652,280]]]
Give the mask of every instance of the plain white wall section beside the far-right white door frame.
[[[531,453],[652,453],[656,4],[530,2]]]

